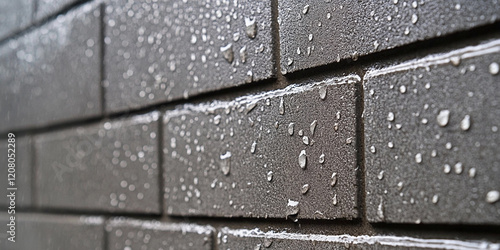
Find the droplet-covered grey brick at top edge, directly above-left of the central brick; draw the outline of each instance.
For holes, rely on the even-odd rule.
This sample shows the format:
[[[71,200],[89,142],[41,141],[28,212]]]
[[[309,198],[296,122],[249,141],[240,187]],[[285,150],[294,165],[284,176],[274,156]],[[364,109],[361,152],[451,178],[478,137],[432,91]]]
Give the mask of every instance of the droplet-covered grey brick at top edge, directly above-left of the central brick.
[[[271,1],[148,2],[111,1],[106,7],[109,112],[274,75]]]

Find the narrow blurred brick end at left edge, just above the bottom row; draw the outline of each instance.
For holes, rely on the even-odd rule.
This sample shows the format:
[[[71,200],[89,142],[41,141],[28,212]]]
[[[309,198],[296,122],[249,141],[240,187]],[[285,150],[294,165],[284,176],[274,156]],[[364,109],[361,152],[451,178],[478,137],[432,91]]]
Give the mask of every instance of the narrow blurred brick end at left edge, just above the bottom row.
[[[30,137],[18,137],[15,142],[15,186],[10,186],[8,182],[8,155],[13,153],[12,151],[7,152],[7,140],[0,141],[0,162],[2,166],[0,167],[0,189],[2,190],[2,196],[0,198],[0,206],[8,207],[10,200],[7,200],[6,195],[9,194],[7,188],[15,187],[16,192],[16,208],[17,207],[28,207],[31,206],[31,170],[32,170],[32,156],[31,156],[31,138]],[[12,147],[9,147],[13,149]]]

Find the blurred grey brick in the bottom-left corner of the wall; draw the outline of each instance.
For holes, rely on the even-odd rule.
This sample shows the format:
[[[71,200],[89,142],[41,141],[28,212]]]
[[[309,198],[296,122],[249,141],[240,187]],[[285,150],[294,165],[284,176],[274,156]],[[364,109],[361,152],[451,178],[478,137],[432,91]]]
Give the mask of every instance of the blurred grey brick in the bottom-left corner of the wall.
[[[7,225],[9,216],[0,215],[0,223]],[[74,249],[103,250],[104,225],[102,217],[17,214],[16,242],[0,237],[0,248],[10,250],[25,249]]]

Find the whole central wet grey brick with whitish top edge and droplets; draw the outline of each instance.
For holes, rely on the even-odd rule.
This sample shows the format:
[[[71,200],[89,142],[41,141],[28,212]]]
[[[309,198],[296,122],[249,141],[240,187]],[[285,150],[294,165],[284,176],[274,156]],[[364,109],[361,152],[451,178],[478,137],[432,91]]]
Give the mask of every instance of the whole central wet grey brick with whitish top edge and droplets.
[[[168,111],[163,149],[167,213],[357,217],[359,79],[333,78]]]

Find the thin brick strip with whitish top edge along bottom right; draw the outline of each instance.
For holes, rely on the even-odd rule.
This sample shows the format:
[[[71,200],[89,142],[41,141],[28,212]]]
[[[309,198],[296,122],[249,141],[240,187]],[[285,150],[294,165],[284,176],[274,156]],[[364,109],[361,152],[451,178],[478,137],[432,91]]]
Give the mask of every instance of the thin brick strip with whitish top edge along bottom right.
[[[255,229],[221,228],[219,249],[498,249],[485,241],[419,239],[397,236],[350,236],[263,232]]]

